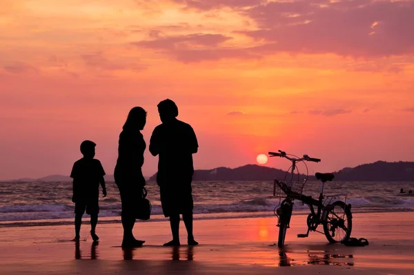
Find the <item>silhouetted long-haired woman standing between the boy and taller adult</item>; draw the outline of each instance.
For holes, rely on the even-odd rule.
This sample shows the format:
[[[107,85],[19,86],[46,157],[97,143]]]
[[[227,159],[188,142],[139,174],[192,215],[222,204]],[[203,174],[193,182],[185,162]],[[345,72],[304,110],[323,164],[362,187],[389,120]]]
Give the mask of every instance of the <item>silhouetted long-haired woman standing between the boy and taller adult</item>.
[[[144,164],[146,143],[141,130],[146,124],[146,111],[141,107],[130,110],[123,131],[119,135],[118,160],[115,167],[115,183],[121,195],[121,221],[124,227],[122,247],[141,247],[145,241],[132,234],[135,225],[137,202],[142,198],[146,182],[141,167]]]

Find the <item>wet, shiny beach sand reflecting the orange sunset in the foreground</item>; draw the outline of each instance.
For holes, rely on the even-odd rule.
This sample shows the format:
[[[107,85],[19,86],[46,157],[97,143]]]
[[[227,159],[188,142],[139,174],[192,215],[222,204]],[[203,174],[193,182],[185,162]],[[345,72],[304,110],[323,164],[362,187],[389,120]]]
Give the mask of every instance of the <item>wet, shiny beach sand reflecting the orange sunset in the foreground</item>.
[[[99,243],[88,236],[70,242],[73,226],[0,228],[0,274],[414,274],[414,213],[355,214],[355,238],[366,247],[328,245],[322,234],[306,232],[306,216],[293,216],[286,246],[277,245],[276,218],[195,220],[200,245],[162,247],[170,240],[168,222],[138,222],[144,247],[120,247],[121,224],[97,227]],[[322,228],[320,228],[322,230]]]

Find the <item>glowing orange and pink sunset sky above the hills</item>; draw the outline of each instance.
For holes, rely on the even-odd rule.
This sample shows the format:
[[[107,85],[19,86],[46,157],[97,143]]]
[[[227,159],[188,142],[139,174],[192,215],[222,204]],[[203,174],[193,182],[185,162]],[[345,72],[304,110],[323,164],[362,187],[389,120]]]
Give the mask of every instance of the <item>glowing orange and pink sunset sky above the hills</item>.
[[[311,172],[414,160],[413,14],[414,1],[3,0],[0,179],[68,175],[85,139],[112,174],[129,109],[148,111],[148,143],[166,98],[197,133],[196,169],[277,149],[322,158]],[[147,176],[156,164],[146,152]]]

